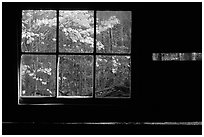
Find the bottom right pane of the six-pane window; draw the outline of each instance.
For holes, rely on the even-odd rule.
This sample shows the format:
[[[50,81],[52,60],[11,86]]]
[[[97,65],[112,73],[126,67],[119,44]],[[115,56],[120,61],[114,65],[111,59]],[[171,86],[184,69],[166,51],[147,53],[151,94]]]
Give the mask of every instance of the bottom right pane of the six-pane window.
[[[130,97],[130,56],[97,56],[96,97]]]

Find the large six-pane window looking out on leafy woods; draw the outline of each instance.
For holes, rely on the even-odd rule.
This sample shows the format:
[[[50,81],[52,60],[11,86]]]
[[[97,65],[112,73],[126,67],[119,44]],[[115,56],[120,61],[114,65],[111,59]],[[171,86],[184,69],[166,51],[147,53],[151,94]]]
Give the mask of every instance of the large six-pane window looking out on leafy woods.
[[[130,98],[131,11],[23,10],[19,100]]]

